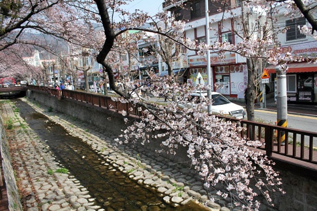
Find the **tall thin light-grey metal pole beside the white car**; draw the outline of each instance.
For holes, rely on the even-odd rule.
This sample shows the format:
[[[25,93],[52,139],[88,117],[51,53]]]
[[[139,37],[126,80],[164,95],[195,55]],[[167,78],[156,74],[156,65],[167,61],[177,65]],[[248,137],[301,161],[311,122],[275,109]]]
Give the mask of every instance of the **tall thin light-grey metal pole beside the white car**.
[[[210,39],[209,39],[209,9],[208,9],[208,0],[205,0],[205,8],[206,8],[206,44],[210,45]],[[210,50],[207,50],[207,80],[208,80],[208,89],[207,89],[207,96],[209,99],[208,103],[208,114],[212,114],[212,96],[211,96],[211,88],[212,88],[212,73],[210,68]]]

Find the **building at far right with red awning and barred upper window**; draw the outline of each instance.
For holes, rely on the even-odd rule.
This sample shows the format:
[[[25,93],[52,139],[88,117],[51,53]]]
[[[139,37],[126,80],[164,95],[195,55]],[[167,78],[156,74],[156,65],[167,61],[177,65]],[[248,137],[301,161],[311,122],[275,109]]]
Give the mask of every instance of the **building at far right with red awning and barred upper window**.
[[[281,8],[278,26],[286,27],[286,33],[278,34],[282,53],[290,52],[292,56],[317,58],[317,41],[301,34],[298,27],[306,24],[308,24],[307,20],[300,14],[292,19],[284,17]],[[287,102],[317,104],[317,64],[305,61],[289,63],[287,66]],[[273,79],[276,78],[275,67],[275,65],[267,67]]]

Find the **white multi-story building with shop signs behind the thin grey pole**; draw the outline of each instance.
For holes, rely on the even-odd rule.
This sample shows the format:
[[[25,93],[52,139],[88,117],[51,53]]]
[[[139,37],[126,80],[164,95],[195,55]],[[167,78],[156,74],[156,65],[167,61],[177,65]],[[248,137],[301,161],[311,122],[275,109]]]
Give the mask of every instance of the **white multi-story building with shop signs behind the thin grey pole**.
[[[184,4],[186,3],[186,4]],[[186,38],[197,40],[197,44],[206,43],[206,9],[205,0],[183,1],[184,8],[170,5],[169,1],[163,3],[163,9],[174,15],[176,20],[187,20],[185,28]],[[231,1],[231,6],[238,6],[239,2]],[[210,31],[210,42],[230,42],[235,44],[239,37],[234,33],[235,22],[228,13],[217,11],[220,3],[209,1],[209,28],[217,29]],[[229,5],[229,7],[231,7]],[[222,5],[223,7],[223,5]],[[217,53],[211,53],[212,84],[218,84],[219,88],[214,90],[235,98],[243,98],[244,89],[247,84],[247,70],[245,58],[235,53],[225,53],[223,59],[219,59]],[[196,51],[187,51],[188,68],[184,73],[189,83],[195,84],[198,73],[202,76],[205,84],[208,83],[207,58],[200,56]]]

